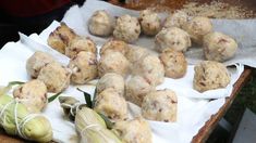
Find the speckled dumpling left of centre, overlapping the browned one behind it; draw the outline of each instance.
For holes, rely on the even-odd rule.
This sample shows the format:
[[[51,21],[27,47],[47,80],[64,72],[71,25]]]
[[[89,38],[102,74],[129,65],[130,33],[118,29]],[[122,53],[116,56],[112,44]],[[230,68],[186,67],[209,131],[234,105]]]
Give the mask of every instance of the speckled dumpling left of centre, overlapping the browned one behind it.
[[[70,61],[68,67],[72,70],[71,81],[74,83],[86,83],[98,75],[97,58],[92,52],[80,52]]]

